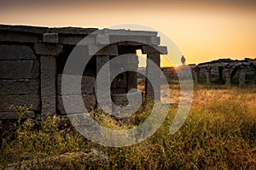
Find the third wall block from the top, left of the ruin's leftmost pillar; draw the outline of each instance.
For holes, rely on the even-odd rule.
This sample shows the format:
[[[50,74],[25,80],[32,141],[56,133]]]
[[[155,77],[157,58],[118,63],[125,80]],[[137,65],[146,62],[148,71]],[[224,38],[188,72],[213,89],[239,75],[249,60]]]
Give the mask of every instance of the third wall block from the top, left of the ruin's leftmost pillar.
[[[39,79],[0,80],[0,94],[39,94]]]

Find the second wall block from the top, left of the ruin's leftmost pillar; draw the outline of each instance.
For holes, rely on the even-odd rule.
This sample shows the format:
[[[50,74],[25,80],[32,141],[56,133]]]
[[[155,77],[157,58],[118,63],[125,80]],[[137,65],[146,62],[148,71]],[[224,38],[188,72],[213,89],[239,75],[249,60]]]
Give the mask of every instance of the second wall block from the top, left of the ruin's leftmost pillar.
[[[38,77],[38,60],[0,60],[0,78],[25,79]]]

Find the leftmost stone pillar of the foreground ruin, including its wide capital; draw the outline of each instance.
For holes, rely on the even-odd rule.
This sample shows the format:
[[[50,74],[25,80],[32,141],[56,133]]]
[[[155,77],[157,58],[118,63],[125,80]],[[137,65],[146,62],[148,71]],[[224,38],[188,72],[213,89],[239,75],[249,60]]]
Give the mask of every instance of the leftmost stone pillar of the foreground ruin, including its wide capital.
[[[41,117],[56,113],[56,58],[62,52],[62,45],[35,43],[34,50],[40,54],[41,64]]]

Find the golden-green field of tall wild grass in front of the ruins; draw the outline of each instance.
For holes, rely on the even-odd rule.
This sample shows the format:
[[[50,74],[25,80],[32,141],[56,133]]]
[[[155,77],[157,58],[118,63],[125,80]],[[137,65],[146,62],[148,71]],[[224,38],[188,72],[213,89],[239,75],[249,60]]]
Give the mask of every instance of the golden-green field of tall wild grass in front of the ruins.
[[[178,86],[171,89],[172,102],[178,102]],[[130,124],[94,114],[104,126],[133,127],[147,118],[148,108]],[[13,162],[9,166],[34,169],[256,168],[256,87],[196,86],[186,122],[171,135],[176,111],[177,105],[171,105],[154,135],[127,147],[92,143],[73,127],[60,128],[58,117],[49,117],[40,128],[23,123],[2,134],[0,169]]]

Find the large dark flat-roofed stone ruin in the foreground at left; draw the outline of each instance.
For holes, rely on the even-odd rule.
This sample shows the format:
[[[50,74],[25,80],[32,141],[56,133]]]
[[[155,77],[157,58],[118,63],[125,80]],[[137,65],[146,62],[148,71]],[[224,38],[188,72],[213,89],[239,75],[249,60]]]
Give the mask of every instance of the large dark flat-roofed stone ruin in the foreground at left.
[[[61,94],[61,76],[64,65],[73,48],[96,28],[48,28],[35,26],[0,25],[0,120],[15,120],[17,114],[10,105],[32,105],[32,111],[23,118],[65,116]],[[119,37],[137,38],[139,42],[120,41],[106,45],[111,39]],[[126,59],[127,66],[138,67],[137,49],[160,66],[160,54],[167,54],[161,47],[160,37],[155,31],[130,31],[104,29],[90,39],[85,48],[93,51],[105,46],[90,59],[86,65],[81,85],[81,93],[87,110],[97,105],[95,94],[96,74],[109,59],[120,54],[135,54]],[[110,73],[121,68],[109,67]],[[147,65],[147,75],[150,65]],[[155,73],[154,73],[155,74]],[[156,77],[158,78],[158,77]],[[71,80],[72,81],[72,80]],[[157,85],[160,88],[160,84]],[[111,96],[116,105],[125,105],[126,93],[137,88],[137,72],[127,71],[119,74],[111,83]],[[135,92],[139,93],[139,92]],[[145,84],[145,99],[153,99],[150,82]]]

